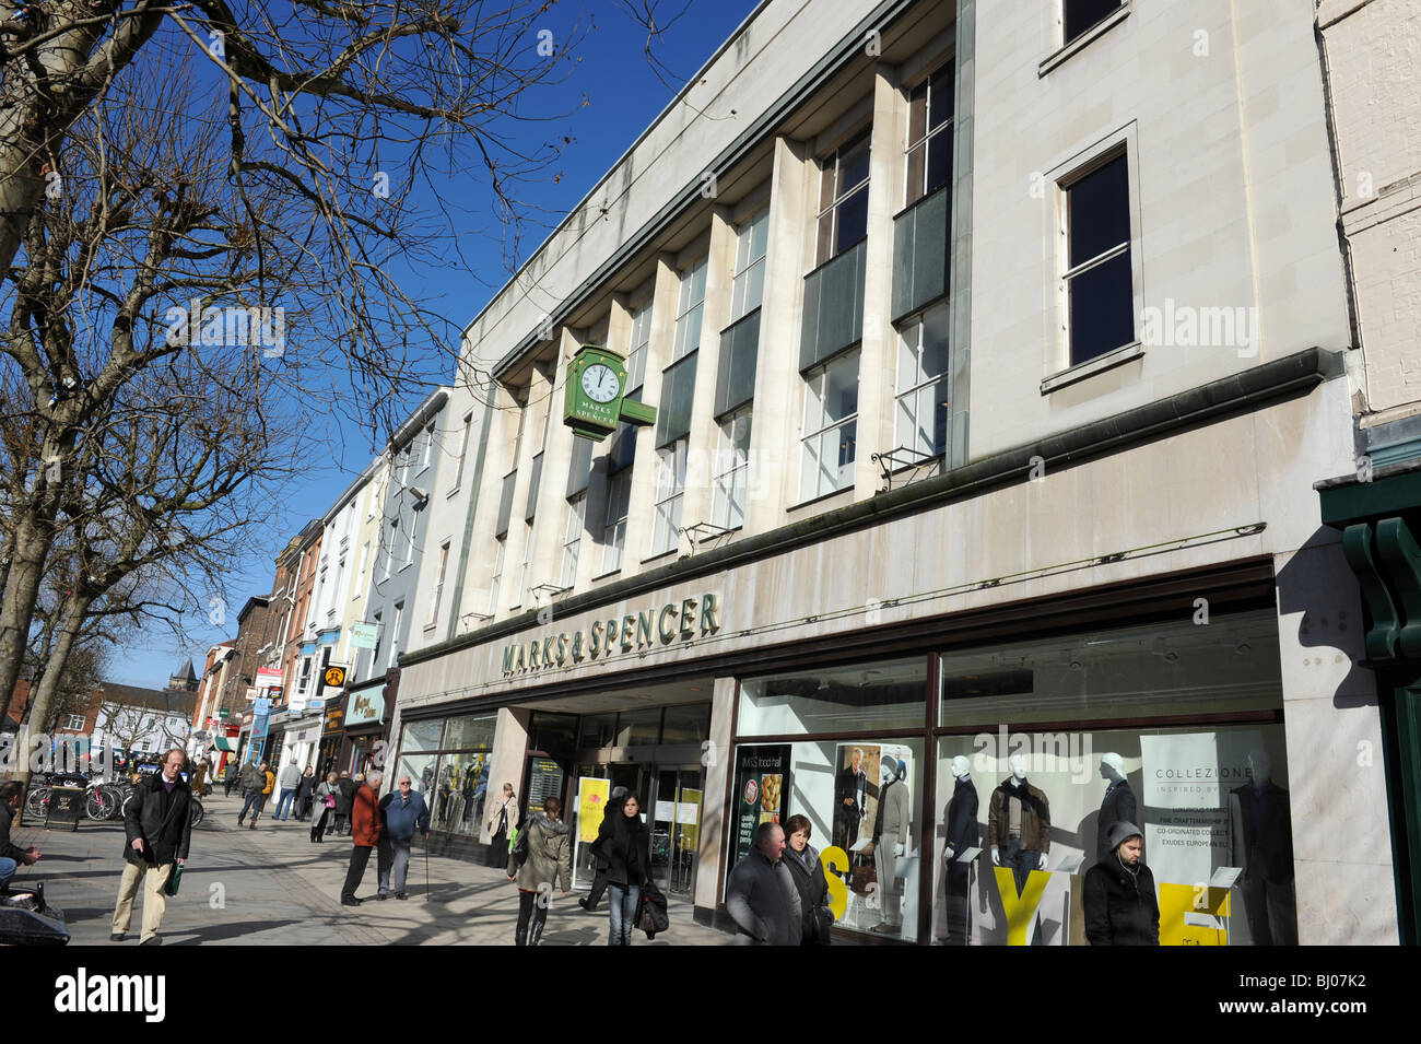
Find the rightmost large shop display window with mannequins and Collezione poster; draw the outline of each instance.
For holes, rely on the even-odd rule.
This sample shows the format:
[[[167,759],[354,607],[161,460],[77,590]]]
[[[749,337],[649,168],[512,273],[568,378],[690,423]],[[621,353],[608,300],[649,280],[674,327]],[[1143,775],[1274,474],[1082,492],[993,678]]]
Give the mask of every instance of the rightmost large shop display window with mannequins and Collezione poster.
[[[935,942],[1086,945],[1084,875],[1118,861],[1107,837],[1130,821],[1161,945],[1296,945],[1272,612],[946,653],[941,666],[941,717],[982,729],[938,739]],[[1101,727],[1050,724],[1067,714]]]

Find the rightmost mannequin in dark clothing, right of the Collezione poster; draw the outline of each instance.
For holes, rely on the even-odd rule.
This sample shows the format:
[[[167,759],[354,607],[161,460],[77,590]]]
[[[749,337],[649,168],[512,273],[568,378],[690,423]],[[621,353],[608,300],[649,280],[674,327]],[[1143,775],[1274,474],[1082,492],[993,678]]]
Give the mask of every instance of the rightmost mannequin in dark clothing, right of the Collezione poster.
[[[1248,756],[1252,780],[1229,794],[1232,862],[1255,946],[1297,946],[1293,892],[1293,820],[1287,791],[1272,780],[1268,751]]]

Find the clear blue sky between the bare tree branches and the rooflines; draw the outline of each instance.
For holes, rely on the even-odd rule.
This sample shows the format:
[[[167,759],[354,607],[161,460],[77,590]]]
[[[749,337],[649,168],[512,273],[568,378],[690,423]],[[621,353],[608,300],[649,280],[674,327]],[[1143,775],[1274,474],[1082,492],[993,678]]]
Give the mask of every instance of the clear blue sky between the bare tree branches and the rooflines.
[[[669,17],[679,3],[672,0],[668,10],[658,13]],[[581,61],[574,71],[536,102],[540,111],[568,115],[551,124],[530,124],[526,134],[533,146],[553,136],[573,141],[566,146],[561,162],[550,170],[561,176],[556,182],[549,178],[520,193],[526,202],[524,214],[541,229],[526,232],[522,241],[524,257],[517,260],[526,260],[526,254],[536,250],[546,233],[583,199],[755,7],[755,0],[691,0],[685,13],[655,41],[657,68],[644,54],[645,30],[615,4],[568,13],[568,18],[580,18],[584,27],[594,28],[587,31],[577,48]],[[489,213],[490,202],[476,197],[445,202],[458,203],[448,213],[455,219],[466,217],[470,227],[452,229],[459,233],[458,260],[450,254],[449,267],[432,274],[421,273],[418,278],[422,293],[435,298],[450,328],[458,331],[473,320],[512,273],[502,249],[486,234],[490,219],[482,214]],[[439,210],[439,203],[438,199],[425,202],[433,212]],[[452,374],[448,361],[431,364],[428,384],[412,382],[409,388],[399,389],[401,401],[414,409],[432,385],[449,381]],[[338,416],[313,416],[311,420],[328,425],[328,456],[311,462],[297,494],[284,490],[287,494],[279,506],[266,550],[233,564],[223,592],[226,626],[212,626],[205,616],[185,619],[195,639],[186,645],[178,643],[166,628],[149,628],[136,635],[128,649],[114,652],[109,680],[162,687],[189,658],[200,673],[207,648],[236,636],[236,614],[243,602],[250,595],[270,591],[276,553],[307,521],[327,510],[369,463],[377,445],[382,445],[388,435],[382,432],[372,439],[368,429]]]

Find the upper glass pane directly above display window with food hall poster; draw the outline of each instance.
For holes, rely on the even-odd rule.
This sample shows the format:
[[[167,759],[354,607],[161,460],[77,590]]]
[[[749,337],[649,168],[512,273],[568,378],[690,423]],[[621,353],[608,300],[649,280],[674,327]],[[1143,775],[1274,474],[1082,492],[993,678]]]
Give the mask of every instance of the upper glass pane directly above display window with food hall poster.
[[[740,736],[800,736],[925,723],[922,656],[740,682]]]

